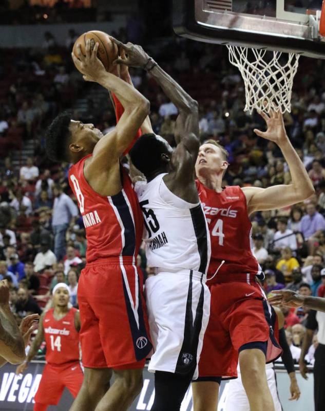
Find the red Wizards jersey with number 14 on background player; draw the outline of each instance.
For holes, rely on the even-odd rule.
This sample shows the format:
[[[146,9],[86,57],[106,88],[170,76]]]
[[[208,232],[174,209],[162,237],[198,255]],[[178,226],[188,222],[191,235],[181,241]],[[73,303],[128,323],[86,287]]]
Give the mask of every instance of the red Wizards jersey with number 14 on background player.
[[[70,308],[68,313],[56,320],[54,308],[48,310],[43,319],[46,362],[51,365],[61,365],[79,361],[79,332],[74,327],[75,308]]]

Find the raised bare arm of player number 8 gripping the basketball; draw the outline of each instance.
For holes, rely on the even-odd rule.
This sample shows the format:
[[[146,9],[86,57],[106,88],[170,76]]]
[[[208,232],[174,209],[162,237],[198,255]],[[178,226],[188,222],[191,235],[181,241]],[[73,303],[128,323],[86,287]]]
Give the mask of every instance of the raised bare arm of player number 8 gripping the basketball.
[[[150,109],[149,101],[136,88],[106,72],[102,62],[97,58],[97,50],[98,43],[91,50],[90,42],[87,41],[86,56],[83,56],[78,47],[78,58],[72,54],[73,62],[86,81],[97,82],[114,93],[123,105],[124,113],[117,127],[101,138],[95,146],[91,161],[93,170],[89,167],[88,175],[91,175],[92,171],[99,174],[101,171],[110,170],[112,165],[118,164],[119,157],[133,140]]]

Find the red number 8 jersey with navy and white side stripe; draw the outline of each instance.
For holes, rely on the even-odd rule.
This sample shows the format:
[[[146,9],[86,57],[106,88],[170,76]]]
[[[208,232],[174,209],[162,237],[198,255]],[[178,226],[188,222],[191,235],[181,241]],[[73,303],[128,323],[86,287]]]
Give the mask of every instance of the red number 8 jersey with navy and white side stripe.
[[[131,180],[121,166],[122,190],[112,196],[95,192],[84,176],[82,158],[69,170],[69,184],[76,196],[87,237],[87,262],[119,256],[137,256],[143,217]]]

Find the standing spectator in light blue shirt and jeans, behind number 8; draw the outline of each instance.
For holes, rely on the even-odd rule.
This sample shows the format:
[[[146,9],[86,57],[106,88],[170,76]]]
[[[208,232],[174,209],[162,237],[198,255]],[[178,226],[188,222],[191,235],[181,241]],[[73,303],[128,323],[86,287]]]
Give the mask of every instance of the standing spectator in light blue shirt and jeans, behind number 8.
[[[66,254],[66,231],[71,220],[78,216],[78,208],[70,197],[63,192],[59,184],[54,186],[53,193],[55,196],[52,217],[54,254],[58,260],[61,260]]]

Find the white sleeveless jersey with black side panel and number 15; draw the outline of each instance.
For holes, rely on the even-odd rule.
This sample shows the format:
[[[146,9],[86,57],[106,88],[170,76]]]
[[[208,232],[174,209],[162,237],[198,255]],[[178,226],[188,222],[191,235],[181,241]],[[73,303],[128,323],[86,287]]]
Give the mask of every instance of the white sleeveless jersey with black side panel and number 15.
[[[167,272],[185,269],[206,274],[211,245],[201,203],[191,204],[173,194],[164,175],[135,187],[144,217],[147,264]]]

